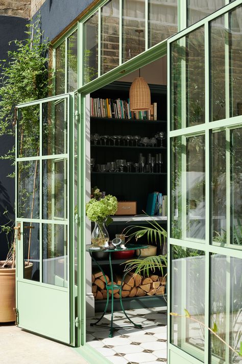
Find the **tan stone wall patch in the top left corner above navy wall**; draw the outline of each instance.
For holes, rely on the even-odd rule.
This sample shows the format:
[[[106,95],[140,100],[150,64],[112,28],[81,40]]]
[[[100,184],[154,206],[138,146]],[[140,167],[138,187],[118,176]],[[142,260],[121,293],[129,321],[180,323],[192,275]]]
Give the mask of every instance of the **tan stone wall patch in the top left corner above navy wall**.
[[[0,0],[0,15],[30,17],[31,0]]]

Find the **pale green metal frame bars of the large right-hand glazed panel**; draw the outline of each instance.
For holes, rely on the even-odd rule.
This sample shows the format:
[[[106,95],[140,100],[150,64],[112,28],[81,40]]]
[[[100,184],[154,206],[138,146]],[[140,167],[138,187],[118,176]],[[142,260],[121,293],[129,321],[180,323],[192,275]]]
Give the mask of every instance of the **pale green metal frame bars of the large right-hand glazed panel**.
[[[167,212],[167,216],[170,217],[170,223],[167,224],[167,236],[168,236],[168,259],[167,262],[170,263],[170,270],[168,273],[168,277],[167,277],[167,314],[168,314],[168,325],[167,325],[167,362],[170,364],[177,364],[179,362],[179,364],[185,364],[185,363],[193,363],[193,364],[199,364],[201,363],[201,361],[204,360],[205,363],[210,362],[209,359],[209,332],[208,330],[205,330],[205,335],[204,335],[204,359],[203,359],[203,355],[201,357],[201,361],[199,359],[197,359],[195,356],[192,356],[192,352],[189,352],[188,348],[184,347],[184,350],[180,349],[179,347],[175,346],[174,344],[172,344],[172,326],[171,326],[171,317],[169,318],[170,312],[171,312],[171,292],[172,292],[172,247],[174,245],[176,246],[181,246],[184,248],[191,248],[191,249],[198,249],[198,250],[203,250],[205,251],[205,276],[204,276],[204,280],[205,280],[205,325],[207,327],[210,327],[210,297],[209,297],[209,289],[210,289],[210,270],[211,270],[211,266],[210,266],[210,255],[212,253],[215,254],[222,254],[222,255],[226,255],[227,257],[235,257],[235,258],[239,258],[242,259],[242,251],[238,250],[238,246],[231,246],[228,243],[227,244],[217,244],[217,246],[215,244],[211,244],[211,233],[210,233],[210,221],[211,221],[211,217],[210,217],[210,181],[211,181],[211,176],[210,176],[210,133],[211,131],[220,131],[220,130],[226,130],[226,136],[227,139],[229,140],[229,131],[231,129],[234,129],[238,126],[242,126],[242,117],[241,116],[236,116],[236,117],[231,117],[229,118],[229,112],[227,111],[226,113],[226,119],[223,120],[217,120],[217,121],[210,121],[210,61],[209,61],[209,22],[211,22],[211,20],[226,14],[228,11],[233,10],[235,7],[241,5],[242,2],[239,0],[235,0],[234,2],[226,5],[224,8],[216,11],[215,13],[207,16],[206,18],[204,18],[203,20],[201,20],[200,22],[190,26],[189,28],[181,31],[180,33],[172,36],[171,38],[168,39],[167,41],[167,120],[168,120],[168,136],[167,136],[167,150],[168,152],[168,212]],[[226,16],[227,19],[227,16]],[[226,22],[228,23],[228,22]],[[228,25],[228,24],[227,24]],[[205,41],[205,123],[204,124],[199,124],[199,125],[194,125],[194,126],[188,126],[185,127],[184,125],[182,125],[181,129],[177,129],[177,130],[173,130],[172,126],[171,126],[171,98],[172,98],[172,63],[171,63],[171,55],[172,55],[172,43],[174,41],[177,41],[181,38],[183,38],[184,36],[188,35],[190,32],[197,30],[199,27],[204,26],[204,41]],[[226,67],[228,67],[228,63],[226,65]],[[228,73],[227,73],[228,74]],[[226,78],[226,93],[227,93],[227,97],[229,98],[229,78]],[[182,100],[181,103],[186,104],[186,92],[182,92]],[[204,134],[205,135],[205,171],[206,171],[206,176],[205,176],[205,206],[206,206],[206,215],[205,215],[205,240],[204,241],[196,241],[195,239],[187,240],[184,239],[183,237],[181,239],[174,239],[172,238],[171,235],[171,223],[172,223],[172,209],[171,209],[171,194],[172,194],[172,185],[171,185],[171,176],[172,176],[172,148],[171,148],[171,140],[174,137],[179,137],[181,136],[182,138],[184,137],[190,137],[190,136],[195,136],[198,134]],[[226,149],[226,163],[230,163],[229,161],[229,149],[227,147]],[[229,195],[230,191],[230,176],[227,173],[227,180],[226,180],[226,184],[227,184],[227,196]],[[184,186],[184,190],[186,190],[186,186]],[[183,190],[183,191],[184,191]],[[227,224],[229,225],[228,227],[230,227],[230,219],[228,219],[229,217],[229,206],[227,206]],[[229,230],[228,230],[229,231]],[[229,234],[228,234],[229,235]],[[229,284],[229,282],[228,282]],[[226,288],[229,289],[229,285],[226,285]],[[229,310],[229,302],[227,299],[227,310]],[[229,311],[227,311],[229,312]],[[182,313],[181,313],[182,314]],[[228,338],[228,327],[227,327],[227,332],[226,332],[226,338]],[[188,344],[187,344],[188,345]],[[193,349],[194,350],[194,349]],[[186,352],[187,351],[187,352]],[[196,350],[193,351],[193,354],[195,354]],[[198,357],[199,354],[197,353]],[[228,360],[228,350],[226,353],[226,358]],[[228,361],[226,361],[228,362]]]

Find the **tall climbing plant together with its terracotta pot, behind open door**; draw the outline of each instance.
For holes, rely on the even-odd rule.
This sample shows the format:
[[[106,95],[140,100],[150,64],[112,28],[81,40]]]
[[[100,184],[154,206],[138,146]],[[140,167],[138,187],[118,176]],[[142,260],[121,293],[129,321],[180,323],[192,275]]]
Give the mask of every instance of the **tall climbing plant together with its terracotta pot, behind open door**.
[[[22,41],[14,40],[15,50],[8,52],[9,61],[1,61],[1,88],[0,88],[0,136],[15,135],[15,106],[19,103],[29,102],[44,98],[52,88],[52,76],[47,68],[47,52],[50,43],[43,40],[43,32],[40,30],[40,17],[34,24],[27,25],[27,38]],[[28,156],[27,151],[36,148],[35,123],[38,115],[35,110],[23,111],[18,121],[20,135],[28,137],[26,145],[21,145],[19,156]],[[34,125],[34,126],[33,126]],[[13,139],[14,140],[14,139]],[[20,143],[21,144],[21,143]],[[15,146],[9,152],[1,156],[1,159],[9,159],[15,164]],[[20,168],[21,169],[21,168]],[[28,173],[28,166],[25,172]],[[19,172],[21,176],[21,170]],[[9,175],[15,178],[15,174]],[[20,177],[19,177],[20,178]],[[33,200],[34,200],[34,191]],[[25,208],[26,196],[21,196],[20,209]],[[1,226],[2,233],[6,234],[9,244],[9,252],[5,261],[0,262],[0,322],[12,322],[15,320],[15,237],[14,222],[4,212],[8,222]],[[30,239],[31,240],[31,239]],[[30,241],[29,241],[30,244]],[[28,257],[29,258],[29,257]],[[31,279],[32,263],[29,259],[25,263],[25,277]]]

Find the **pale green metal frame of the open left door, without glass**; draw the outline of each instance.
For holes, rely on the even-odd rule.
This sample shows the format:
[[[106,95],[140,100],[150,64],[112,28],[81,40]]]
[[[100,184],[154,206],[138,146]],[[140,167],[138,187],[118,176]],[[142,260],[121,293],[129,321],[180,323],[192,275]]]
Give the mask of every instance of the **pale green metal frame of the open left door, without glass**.
[[[66,113],[65,115],[67,116],[67,120],[66,120],[66,133],[67,133],[67,145],[66,147],[66,153],[64,154],[59,154],[59,155],[43,155],[42,154],[42,145],[43,145],[43,139],[42,139],[42,135],[43,135],[43,128],[42,128],[42,105],[43,103],[46,102],[58,102],[58,101],[65,101],[65,110]],[[16,123],[15,126],[15,145],[16,145],[16,151],[15,151],[15,206],[16,206],[16,224],[18,222],[21,223],[21,241],[19,243],[17,243],[17,247],[16,247],[16,263],[17,263],[17,269],[16,269],[16,303],[17,303],[17,308],[18,308],[18,304],[19,304],[19,297],[21,296],[21,292],[18,290],[18,284],[25,284],[27,285],[27,293],[28,293],[28,287],[31,288],[33,287],[33,289],[35,290],[35,292],[37,293],[38,290],[44,290],[46,289],[47,293],[45,298],[48,299],[49,295],[48,292],[50,292],[52,294],[52,298],[54,299],[55,297],[55,291],[56,292],[66,292],[66,294],[68,295],[67,301],[68,301],[68,311],[66,312],[66,315],[68,315],[68,332],[65,333],[64,335],[59,334],[58,332],[54,335],[54,338],[60,341],[65,341],[67,342],[67,344],[74,346],[75,345],[75,286],[74,286],[74,238],[73,238],[73,225],[70,224],[70,221],[74,221],[74,176],[72,175],[71,171],[73,170],[73,166],[74,166],[74,153],[73,153],[73,148],[74,145],[72,143],[72,138],[74,135],[74,131],[73,131],[73,123],[69,122],[70,120],[70,115],[72,114],[73,110],[74,110],[74,105],[72,105],[72,103],[74,102],[74,93],[72,94],[65,94],[65,95],[60,95],[60,96],[54,96],[54,97],[49,97],[49,98],[45,98],[45,99],[41,99],[41,100],[36,100],[36,101],[32,101],[32,102],[27,102],[27,103],[23,103],[23,104],[19,104],[17,105],[17,114],[19,117],[19,110],[23,109],[23,108],[28,108],[29,106],[33,106],[33,105],[39,105],[39,155],[35,156],[35,157],[25,157],[25,158],[18,158],[18,133],[17,133],[17,126],[18,126],[18,121]],[[69,201],[68,206],[67,206],[67,216],[65,217],[65,219],[54,219],[54,220],[44,220],[42,217],[42,161],[43,160],[53,160],[55,161],[56,159],[63,159],[65,158],[65,160],[67,161],[67,177],[68,181],[67,181],[67,200]],[[39,186],[39,205],[40,205],[40,212],[39,212],[39,219],[26,219],[26,218],[19,218],[17,217],[17,211],[18,211],[18,181],[17,181],[17,165],[18,162],[22,162],[22,161],[39,161],[39,168],[40,168],[40,172],[39,172],[39,180],[40,180],[40,186]],[[65,203],[65,201],[64,201]],[[25,280],[23,279],[23,275],[22,275],[22,262],[23,262],[23,222],[29,222],[29,223],[38,223],[40,224],[40,256],[39,256],[39,261],[40,261],[40,282],[36,282],[36,281],[31,281],[31,280]],[[68,255],[68,266],[69,266],[69,280],[67,282],[67,288],[64,287],[59,287],[59,286],[54,286],[51,284],[47,284],[47,283],[43,283],[42,282],[42,259],[43,259],[43,253],[42,253],[42,223],[44,224],[62,224],[64,226],[66,226],[67,229],[67,237],[68,237],[68,245],[67,245],[67,255]],[[71,269],[73,268],[73,269]],[[20,288],[20,290],[22,290],[22,288]],[[43,301],[44,301],[44,297],[42,297]],[[41,302],[41,299],[40,299]],[[58,312],[58,307],[61,306],[60,302],[49,302],[47,303],[47,305],[54,305],[54,309]],[[46,306],[46,304],[45,304]],[[25,308],[25,305],[22,304],[21,305],[21,309],[23,311],[23,309]],[[35,312],[36,309],[35,307],[31,307],[31,315],[38,317],[41,317],[41,312]],[[63,313],[63,312],[62,312]],[[30,314],[30,311],[27,312],[27,315]],[[19,312],[19,318],[21,317],[21,312]],[[59,317],[59,320],[61,322],[61,316]],[[41,318],[44,322],[44,313],[43,316]],[[39,321],[39,320],[38,320]],[[33,326],[32,326],[33,324]],[[46,323],[47,326],[48,323]],[[30,326],[31,325],[31,326]],[[41,324],[42,325],[42,324]],[[40,325],[40,326],[41,326]],[[47,333],[44,332],[43,329],[41,329],[40,331],[38,329],[35,328],[35,324],[34,324],[34,320],[31,323],[28,323],[27,325],[25,324],[25,320],[23,320],[23,322],[19,322],[19,326],[22,328],[25,328],[27,330],[33,331],[33,332],[37,332],[41,335],[46,335],[46,336],[52,336],[52,334],[49,334],[47,331]],[[60,329],[60,327],[59,327]],[[54,332],[54,331],[53,331]],[[52,336],[53,337],[53,336]],[[66,339],[62,339],[61,337],[66,337]],[[68,337],[68,339],[67,339]]]

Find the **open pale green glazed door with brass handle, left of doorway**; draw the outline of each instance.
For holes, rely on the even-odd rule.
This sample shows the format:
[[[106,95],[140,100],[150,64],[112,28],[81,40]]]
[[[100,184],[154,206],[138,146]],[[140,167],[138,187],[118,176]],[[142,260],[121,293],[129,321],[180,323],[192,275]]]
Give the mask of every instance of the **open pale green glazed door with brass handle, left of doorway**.
[[[16,125],[17,323],[67,344],[75,319],[70,101],[19,105]]]

